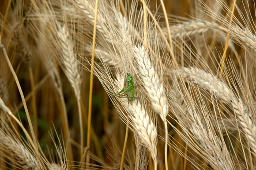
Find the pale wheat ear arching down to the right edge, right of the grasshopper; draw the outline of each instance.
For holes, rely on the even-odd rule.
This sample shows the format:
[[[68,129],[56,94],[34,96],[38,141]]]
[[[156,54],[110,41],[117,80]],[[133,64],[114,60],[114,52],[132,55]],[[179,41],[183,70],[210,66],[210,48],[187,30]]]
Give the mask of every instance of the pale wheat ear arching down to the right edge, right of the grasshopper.
[[[176,74],[181,74],[174,71]],[[256,155],[256,125],[250,116],[250,112],[240,98],[237,98],[233,91],[218,78],[198,68],[183,68],[183,77],[200,85],[203,89],[214,93],[220,100],[230,104],[247,138],[252,152]]]

